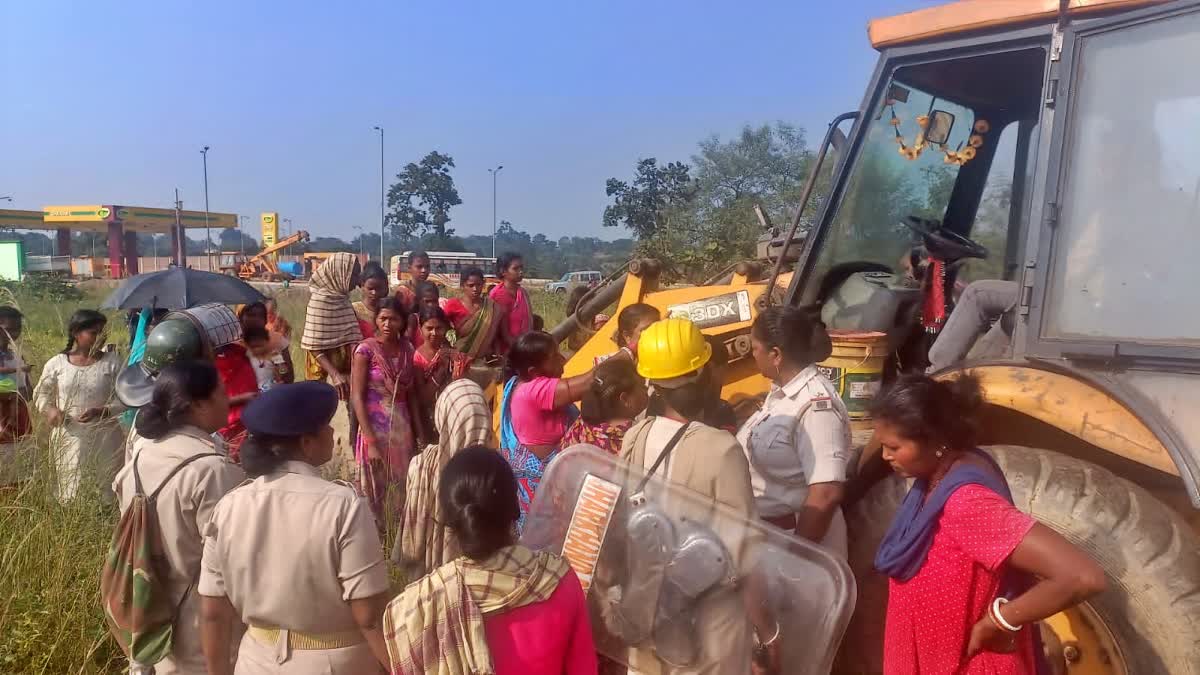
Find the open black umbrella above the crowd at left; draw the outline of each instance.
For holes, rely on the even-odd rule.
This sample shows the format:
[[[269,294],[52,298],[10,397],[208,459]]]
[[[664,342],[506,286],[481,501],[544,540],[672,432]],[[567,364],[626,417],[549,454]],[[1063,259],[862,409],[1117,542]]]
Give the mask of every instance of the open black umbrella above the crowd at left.
[[[205,303],[242,305],[263,299],[262,293],[236,276],[173,267],[126,279],[102,309],[186,310]]]

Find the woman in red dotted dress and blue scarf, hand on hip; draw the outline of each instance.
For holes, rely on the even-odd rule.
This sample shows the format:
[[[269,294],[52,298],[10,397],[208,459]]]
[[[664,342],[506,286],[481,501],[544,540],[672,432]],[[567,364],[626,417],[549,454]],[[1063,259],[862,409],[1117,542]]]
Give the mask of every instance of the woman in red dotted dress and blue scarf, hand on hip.
[[[875,558],[889,577],[887,675],[1044,671],[1037,622],[1106,586],[1091,557],[1013,504],[974,447],[983,406],[972,376],[908,375],[875,407],[883,459],[916,478]]]

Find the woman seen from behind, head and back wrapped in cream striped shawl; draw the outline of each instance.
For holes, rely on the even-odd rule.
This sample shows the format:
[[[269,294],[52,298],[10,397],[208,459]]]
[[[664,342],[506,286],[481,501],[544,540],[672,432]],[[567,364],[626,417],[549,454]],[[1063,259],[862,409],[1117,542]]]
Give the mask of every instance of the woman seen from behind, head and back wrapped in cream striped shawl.
[[[433,408],[438,443],[408,465],[408,497],[392,560],[406,579],[419,579],[462,555],[458,542],[438,512],[442,470],[458,450],[492,444],[492,413],[484,390],[470,380],[455,380]]]

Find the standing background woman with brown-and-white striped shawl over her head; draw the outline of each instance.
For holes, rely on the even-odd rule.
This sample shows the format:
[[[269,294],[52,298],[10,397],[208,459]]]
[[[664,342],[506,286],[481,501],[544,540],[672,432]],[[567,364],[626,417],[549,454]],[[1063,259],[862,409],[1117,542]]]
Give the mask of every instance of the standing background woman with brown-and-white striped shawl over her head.
[[[362,341],[350,291],[359,286],[361,265],[354,253],[334,253],[312,273],[308,310],[300,346],[307,352],[308,380],[328,380],[343,401],[350,394],[350,360]]]

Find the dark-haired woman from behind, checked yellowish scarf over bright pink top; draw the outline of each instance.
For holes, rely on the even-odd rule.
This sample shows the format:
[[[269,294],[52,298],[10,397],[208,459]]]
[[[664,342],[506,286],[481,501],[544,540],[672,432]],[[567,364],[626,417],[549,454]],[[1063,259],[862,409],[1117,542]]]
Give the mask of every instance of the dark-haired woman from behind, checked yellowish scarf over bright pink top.
[[[516,543],[516,478],[504,459],[461,450],[442,472],[438,503],[464,555],[388,604],[392,673],[594,675],[583,589],[565,560]]]

